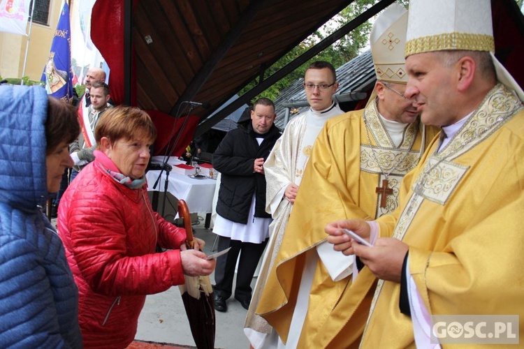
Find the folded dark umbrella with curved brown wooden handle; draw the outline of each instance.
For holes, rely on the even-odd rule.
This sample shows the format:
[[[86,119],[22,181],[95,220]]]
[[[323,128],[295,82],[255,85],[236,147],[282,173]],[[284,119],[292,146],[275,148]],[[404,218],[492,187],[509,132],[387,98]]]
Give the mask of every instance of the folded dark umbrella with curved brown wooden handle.
[[[191,215],[184,200],[178,201],[178,215],[184,219],[187,246],[193,248],[193,228]],[[179,285],[182,301],[186,309],[191,334],[198,349],[214,348],[214,303],[213,288],[209,276],[184,275],[186,283]]]

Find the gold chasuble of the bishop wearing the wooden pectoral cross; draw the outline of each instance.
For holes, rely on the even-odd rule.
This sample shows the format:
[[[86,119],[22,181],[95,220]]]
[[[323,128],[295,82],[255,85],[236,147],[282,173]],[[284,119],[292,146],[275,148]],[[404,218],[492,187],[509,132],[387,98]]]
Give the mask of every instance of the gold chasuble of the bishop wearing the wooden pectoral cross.
[[[365,122],[371,126],[368,134],[363,112]],[[316,253],[314,248],[326,241],[327,223],[343,218],[372,220],[397,207],[400,181],[423,153],[420,128],[419,121],[409,124],[400,146],[395,147],[384,129],[376,103],[326,122],[313,147],[282,246],[256,309],[284,343],[297,306],[306,253],[311,250]],[[435,134],[435,128],[428,128],[427,143]],[[380,207],[382,194],[377,193],[377,188],[385,179],[391,194],[386,195],[386,205]],[[376,280],[367,268],[362,269],[354,284],[351,275],[335,282],[319,259],[298,347],[358,345],[374,284]]]

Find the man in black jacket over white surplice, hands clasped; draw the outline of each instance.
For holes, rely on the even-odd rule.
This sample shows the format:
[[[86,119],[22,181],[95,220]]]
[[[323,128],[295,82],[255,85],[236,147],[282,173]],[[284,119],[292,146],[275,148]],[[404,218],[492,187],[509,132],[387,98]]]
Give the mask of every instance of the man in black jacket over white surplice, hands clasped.
[[[229,131],[213,154],[213,168],[221,173],[217,219],[213,232],[219,235],[218,251],[231,247],[226,258],[217,260],[214,280],[214,309],[227,311],[233,276],[238,260],[235,299],[249,308],[251,282],[268,242],[270,214],[265,212],[265,175],[263,164],[280,137],[275,121],[275,105],[259,98],[251,119]]]

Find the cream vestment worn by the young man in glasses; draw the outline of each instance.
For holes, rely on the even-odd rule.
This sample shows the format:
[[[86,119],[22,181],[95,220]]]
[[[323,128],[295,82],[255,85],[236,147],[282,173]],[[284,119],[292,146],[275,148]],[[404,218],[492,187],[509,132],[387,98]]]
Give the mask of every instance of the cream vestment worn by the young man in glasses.
[[[273,221],[269,229],[270,239],[263,256],[261,272],[256,281],[244,326],[244,332],[255,349],[282,347],[276,332],[268,322],[254,312],[268,272],[282,243],[282,236],[293,207],[291,202],[284,198],[284,191],[291,183],[300,186],[316,137],[328,119],[343,113],[340,107],[333,103],[326,110],[317,112],[310,108],[300,114],[286,126],[264,163],[267,182],[265,210],[272,215]]]

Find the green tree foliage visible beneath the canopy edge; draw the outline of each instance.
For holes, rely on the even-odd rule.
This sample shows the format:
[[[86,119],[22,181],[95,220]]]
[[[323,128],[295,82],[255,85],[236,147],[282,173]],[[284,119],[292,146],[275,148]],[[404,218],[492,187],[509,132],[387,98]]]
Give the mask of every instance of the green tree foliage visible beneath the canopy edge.
[[[344,24],[349,23],[355,17],[363,13],[367,8],[370,8],[370,6],[372,6],[374,3],[374,0],[356,0],[351,2],[347,8],[344,8],[344,10],[342,10],[338,15],[335,15],[335,17],[328,21],[328,23],[326,23],[323,27],[316,30],[313,34],[303,40],[302,43],[294,47],[293,50],[285,54],[284,57],[266,69],[265,77],[272,75],[273,73],[277,72],[277,70],[283,68],[286,66],[286,64],[289,64],[291,61],[299,57],[300,54],[310,50],[311,47],[319,43],[330,34],[333,34],[333,32],[337,31],[337,29],[340,29],[340,27],[342,27]],[[314,61],[328,61],[330,64],[333,64],[335,68],[338,68],[339,66],[342,66],[342,64],[345,64],[351,59],[354,59],[354,57],[356,57],[358,53],[360,53],[360,51],[367,45],[371,27],[372,24],[370,21],[365,22],[360,27],[340,38],[340,40],[337,40],[335,43],[333,43],[333,45],[330,45],[330,47],[327,47],[326,50],[319,52],[319,54],[313,57],[310,61],[307,61],[305,64],[296,68],[293,70],[293,72],[289,73],[275,84],[272,84],[272,86],[268,87],[268,89],[265,89],[262,94],[256,96],[254,99],[259,97],[267,97],[275,100],[282,89],[289,87],[293,81],[303,77],[307,66],[312,64]],[[256,84],[258,84],[257,80],[247,84],[247,86],[244,87],[239,92],[239,94],[245,94],[245,92],[255,87]]]

